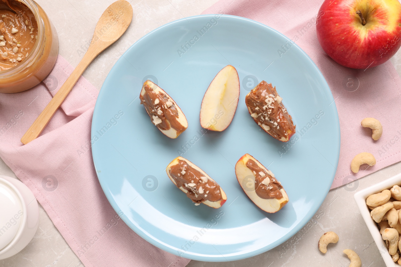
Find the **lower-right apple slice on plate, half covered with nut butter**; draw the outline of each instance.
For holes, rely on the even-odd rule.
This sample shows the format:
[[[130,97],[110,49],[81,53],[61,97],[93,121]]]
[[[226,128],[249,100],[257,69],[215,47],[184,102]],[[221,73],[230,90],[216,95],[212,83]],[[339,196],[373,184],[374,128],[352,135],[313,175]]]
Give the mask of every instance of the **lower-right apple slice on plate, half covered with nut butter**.
[[[253,166],[255,166],[256,163],[257,168],[260,169],[259,173],[256,173],[247,166],[249,160],[253,161]],[[247,194],[249,199],[251,199],[251,201],[253,201],[253,203],[255,203],[255,205],[261,208],[263,211],[275,213],[287,204],[288,195],[281,186],[281,183],[275,179],[271,171],[267,170],[251,155],[245,154],[237,161],[237,164],[235,164],[235,175],[237,175],[238,183],[241,185],[245,194]],[[262,183],[256,183],[255,181],[257,176],[264,179],[268,178],[269,181],[265,180]],[[259,191],[255,189],[255,186],[260,187]],[[264,190],[263,187],[267,188],[268,191]],[[270,190],[269,187],[272,187],[271,189],[273,190]],[[260,197],[258,195],[259,192],[268,198],[266,199]]]

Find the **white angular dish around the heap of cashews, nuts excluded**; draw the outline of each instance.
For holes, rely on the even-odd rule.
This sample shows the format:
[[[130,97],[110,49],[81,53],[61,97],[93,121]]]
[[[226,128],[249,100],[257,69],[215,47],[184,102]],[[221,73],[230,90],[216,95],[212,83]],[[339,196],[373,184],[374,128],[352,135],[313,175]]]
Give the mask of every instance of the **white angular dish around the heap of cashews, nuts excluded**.
[[[366,199],[372,194],[379,193],[385,189],[391,189],[393,185],[401,185],[401,173],[376,185],[372,185],[371,187],[363,189],[355,193],[354,195],[354,199],[356,201],[356,205],[358,205],[360,214],[365,220],[365,223],[369,231],[371,232],[373,240],[375,240],[377,248],[379,249],[379,252],[383,257],[383,260],[387,267],[399,267],[400,265],[398,263],[393,262],[393,260],[391,259],[391,255],[387,250],[386,243],[385,241],[383,241],[383,238],[381,237],[381,234],[379,232],[379,227],[371,217],[371,210],[366,205]]]

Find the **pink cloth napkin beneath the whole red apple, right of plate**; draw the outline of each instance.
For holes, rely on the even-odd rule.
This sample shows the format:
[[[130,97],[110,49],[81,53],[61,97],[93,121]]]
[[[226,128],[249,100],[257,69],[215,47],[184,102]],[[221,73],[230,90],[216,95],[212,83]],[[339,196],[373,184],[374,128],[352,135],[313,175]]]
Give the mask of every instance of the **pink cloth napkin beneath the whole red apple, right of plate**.
[[[375,68],[353,70],[327,56],[316,37],[316,17],[322,3],[221,0],[203,14],[230,14],[266,24],[298,44],[318,66],[330,86],[340,118],[340,161],[333,189],[401,161],[401,79],[389,61]],[[377,118],[383,125],[383,136],[378,141],[371,138],[371,129],[360,125],[366,117]],[[361,152],[372,153],[377,163],[369,168],[363,165],[354,174],[350,163]]]

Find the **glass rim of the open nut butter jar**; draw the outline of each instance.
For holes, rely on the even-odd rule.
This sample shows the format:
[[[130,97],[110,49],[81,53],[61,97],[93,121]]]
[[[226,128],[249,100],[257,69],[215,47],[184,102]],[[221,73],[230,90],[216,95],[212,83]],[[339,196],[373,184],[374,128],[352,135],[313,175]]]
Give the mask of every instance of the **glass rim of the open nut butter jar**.
[[[45,39],[45,23],[43,22],[43,19],[39,14],[39,9],[38,6],[36,5],[36,2],[32,0],[14,0],[14,1],[18,1],[21,2],[22,4],[25,4],[32,11],[36,19],[36,24],[38,26],[37,38],[32,50],[29,52],[25,60],[23,60],[17,66],[9,68],[8,70],[0,71],[0,79],[13,76],[16,73],[22,72],[24,71],[25,68],[31,66],[40,56],[39,50],[41,49],[41,46],[43,45]]]

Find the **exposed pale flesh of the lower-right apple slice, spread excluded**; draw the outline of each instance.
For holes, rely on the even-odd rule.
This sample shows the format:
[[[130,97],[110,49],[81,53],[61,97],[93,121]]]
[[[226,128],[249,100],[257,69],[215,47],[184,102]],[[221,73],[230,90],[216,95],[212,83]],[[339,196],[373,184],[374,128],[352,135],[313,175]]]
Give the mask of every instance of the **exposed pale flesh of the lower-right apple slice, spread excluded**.
[[[280,192],[282,193],[281,199],[262,199],[256,194],[256,191],[253,190],[255,189],[254,187],[251,190],[249,188],[244,188],[244,179],[246,179],[245,184],[248,179],[253,179],[253,181],[256,179],[253,171],[246,166],[246,163],[249,159],[255,161],[255,163],[257,163],[257,165],[264,169],[267,173],[271,173],[254,157],[249,154],[245,154],[237,161],[237,164],[235,164],[235,175],[237,176],[239,185],[241,185],[243,191],[245,194],[247,194],[249,199],[251,199],[251,201],[263,211],[268,213],[275,213],[279,211],[288,203],[288,195],[284,189],[280,189]],[[253,185],[255,185],[255,183],[253,183]]]

